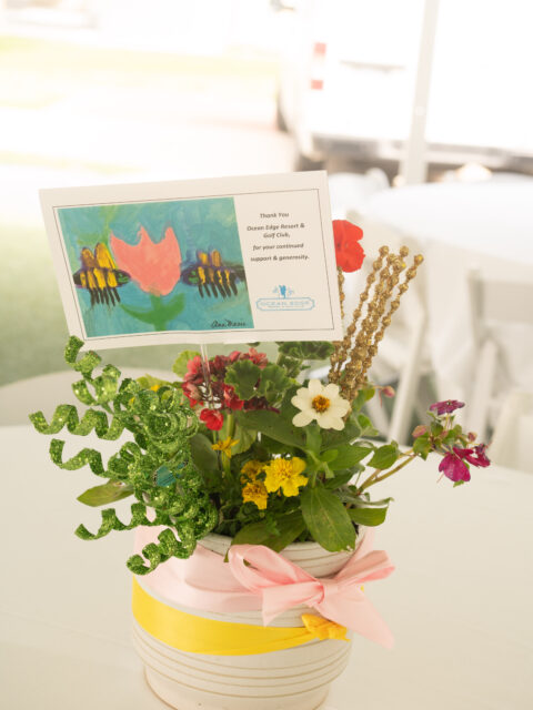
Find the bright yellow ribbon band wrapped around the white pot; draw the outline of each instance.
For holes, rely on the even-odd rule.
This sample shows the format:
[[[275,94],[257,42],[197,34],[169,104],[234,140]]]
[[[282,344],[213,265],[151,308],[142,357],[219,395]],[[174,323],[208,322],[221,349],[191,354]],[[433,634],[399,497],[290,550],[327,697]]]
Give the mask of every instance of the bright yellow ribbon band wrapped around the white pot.
[[[150,596],[135,578],[133,578],[132,607],[133,616],[144,631],[159,641],[188,653],[209,656],[268,653],[301,646],[319,636],[316,631],[308,630],[306,626],[281,628],[233,623],[179,611]],[[325,623],[345,631],[344,627],[339,625],[328,621]],[[342,637],[330,633],[329,638]]]

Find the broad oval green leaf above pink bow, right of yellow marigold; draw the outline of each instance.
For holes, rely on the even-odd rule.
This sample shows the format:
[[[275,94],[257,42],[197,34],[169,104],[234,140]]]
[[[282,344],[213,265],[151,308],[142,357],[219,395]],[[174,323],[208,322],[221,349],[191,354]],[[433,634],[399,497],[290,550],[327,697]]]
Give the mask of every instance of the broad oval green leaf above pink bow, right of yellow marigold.
[[[301,494],[305,525],[313,538],[330,552],[353,549],[355,528],[340,499],[322,485],[306,487]]]

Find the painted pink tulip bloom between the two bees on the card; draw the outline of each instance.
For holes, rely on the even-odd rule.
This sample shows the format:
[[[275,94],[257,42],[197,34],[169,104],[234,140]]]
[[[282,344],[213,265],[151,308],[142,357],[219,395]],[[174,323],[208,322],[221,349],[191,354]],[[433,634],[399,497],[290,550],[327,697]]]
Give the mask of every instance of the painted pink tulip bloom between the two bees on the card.
[[[174,230],[169,226],[164,237],[158,244],[150,239],[141,226],[139,244],[127,244],[110,235],[111,250],[119,268],[125,271],[142,291],[155,296],[168,295],[181,276],[181,250]]]

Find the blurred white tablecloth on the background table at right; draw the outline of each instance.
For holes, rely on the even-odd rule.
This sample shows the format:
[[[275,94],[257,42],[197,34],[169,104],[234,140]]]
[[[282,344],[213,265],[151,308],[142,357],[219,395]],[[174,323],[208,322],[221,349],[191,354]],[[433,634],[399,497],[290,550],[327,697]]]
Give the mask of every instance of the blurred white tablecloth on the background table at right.
[[[370,199],[365,216],[420,244],[439,394],[467,398],[475,362],[466,274],[479,270],[533,283],[533,180],[382,191]],[[494,333],[504,354],[500,390],[533,390],[532,329],[513,324]]]

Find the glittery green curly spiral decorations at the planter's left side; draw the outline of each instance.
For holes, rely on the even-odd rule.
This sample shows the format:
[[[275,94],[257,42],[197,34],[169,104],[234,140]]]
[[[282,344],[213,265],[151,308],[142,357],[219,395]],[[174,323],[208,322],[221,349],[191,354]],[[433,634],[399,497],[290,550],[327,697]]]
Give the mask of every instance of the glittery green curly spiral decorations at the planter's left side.
[[[139,525],[163,525],[177,531],[179,539],[169,529],[163,536],[163,547],[161,544],[150,547],[152,557],[147,557],[148,565],[139,556],[132,562],[137,574],[145,574],[154,569],[157,559],[168,559],[165,556],[172,550],[178,557],[188,557],[195,541],[217,523],[218,511],[193,466],[190,438],[197,433],[197,418],[183,403],[181,392],[172,386],[161,385],[154,392],[133,379],[120,383],[120,372],[112,366],[92,377],[100,358],[90,352],[78,359],[82,345],[79,338],[71,337],[66,349],[67,362],[83,376],[83,381],[74,385],[74,393],[82,403],[99,405],[104,412],[90,408],[80,419],[76,407],[60,405],[50,424],[42,413],[31,415],[30,419],[43,434],[57,434],[63,427],[81,436],[94,430],[102,439],[117,439],[124,429],[132,434],[134,440],[123,444],[111,456],[107,468],[100,453],[88,447],[63,460],[64,442],[60,439],[52,439],[50,456],[60,468],[76,470],[89,465],[97,476],[109,479],[103,486],[82,494],[82,503],[102,505],[125,497],[122,495],[125,491],[128,495],[133,493],[138,499],[131,507],[130,523],[122,523],[112,508],[102,510],[102,523],[97,532],[90,532],[84,526],[77,529],[82,539],[98,539],[112,530],[132,529]],[[108,416],[112,417],[111,423]],[[163,466],[175,477],[175,484],[165,487],[158,484],[158,470]],[[147,518],[147,507],[154,511],[153,520]]]

